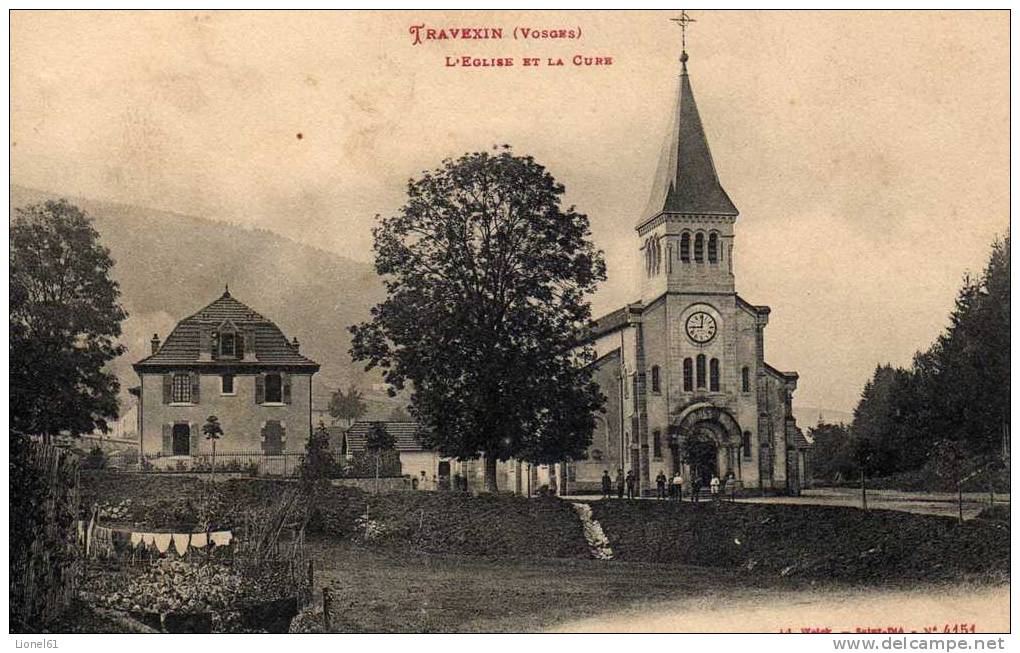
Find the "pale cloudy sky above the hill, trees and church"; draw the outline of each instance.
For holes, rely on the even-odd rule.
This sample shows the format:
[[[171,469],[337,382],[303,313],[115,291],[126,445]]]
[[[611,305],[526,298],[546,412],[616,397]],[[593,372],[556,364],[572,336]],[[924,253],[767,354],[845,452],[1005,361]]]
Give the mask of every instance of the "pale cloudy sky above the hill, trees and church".
[[[589,215],[607,312],[638,296],[633,225],[676,93],[674,15],[15,11],[11,182],[367,262],[408,179],[510,144]],[[771,306],[766,358],[800,372],[798,403],[851,410],[877,363],[909,364],[938,335],[1008,230],[1009,13],[692,15],[692,85],[741,210],[737,292]],[[421,24],[504,38],[414,45]],[[446,65],[464,55],[514,65]]]

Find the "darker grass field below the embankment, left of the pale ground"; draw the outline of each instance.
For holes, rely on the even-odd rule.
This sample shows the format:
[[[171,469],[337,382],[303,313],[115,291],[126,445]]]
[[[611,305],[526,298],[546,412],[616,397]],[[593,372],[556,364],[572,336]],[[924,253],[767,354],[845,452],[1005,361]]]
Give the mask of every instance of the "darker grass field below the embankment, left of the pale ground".
[[[738,569],[566,558],[479,558],[368,549],[317,538],[317,608],[333,590],[335,633],[536,632],[583,617],[697,596],[764,599],[822,587],[804,580],[749,582]]]

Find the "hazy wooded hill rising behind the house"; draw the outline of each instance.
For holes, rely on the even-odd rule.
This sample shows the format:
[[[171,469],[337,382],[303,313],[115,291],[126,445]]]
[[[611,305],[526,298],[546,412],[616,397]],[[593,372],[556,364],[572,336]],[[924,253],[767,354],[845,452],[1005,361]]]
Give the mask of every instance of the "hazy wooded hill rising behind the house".
[[[11,186],[15,207],[64,197],[95,220],[103,244],[116,261],[129,312],[122,342],[128,352],[110,368],[126,389],[138,384],[131,365],[149,352],[154,333],[165,338],[183,317],[199,310],[230,285],[231,294],[272,319],[302,352],[322,365],[316,395],[338,385],[378,383],[348,355],[349,324],[366,319],[384,297],[382,285],[367,263],[302,245],[264,230],[140,206],[65,197]]]

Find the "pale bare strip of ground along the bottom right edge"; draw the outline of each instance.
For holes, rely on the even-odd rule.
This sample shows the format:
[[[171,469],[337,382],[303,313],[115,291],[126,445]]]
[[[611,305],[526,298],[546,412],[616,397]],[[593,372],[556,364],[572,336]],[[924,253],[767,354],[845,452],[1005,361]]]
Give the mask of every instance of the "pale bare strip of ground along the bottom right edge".
[[[564,623],[557,633],[777,633],[787,629],[903,629],[942,633],[970,625],[978,633],[1010,629],[1010,590],[823,590],[776,593],[768,600],[709,597],[648,605]],[[875,632],[875,631],[872,631]],[[959,631],[957,631],[959,632]],[[969,631],[968,631],[969,632]]]

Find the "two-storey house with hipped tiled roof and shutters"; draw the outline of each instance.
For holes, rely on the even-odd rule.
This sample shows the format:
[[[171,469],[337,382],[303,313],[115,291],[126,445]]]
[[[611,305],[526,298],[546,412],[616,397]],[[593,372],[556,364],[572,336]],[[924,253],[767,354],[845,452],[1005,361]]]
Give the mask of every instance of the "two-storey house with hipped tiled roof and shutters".
[[[215,415],[220,454],[302,453],[312,428],[312,376],[319,364],[301,354],[270,319],[231,296],[185,317],[134,365],[142,455],[173,466],[212,452],[202,425]]]

